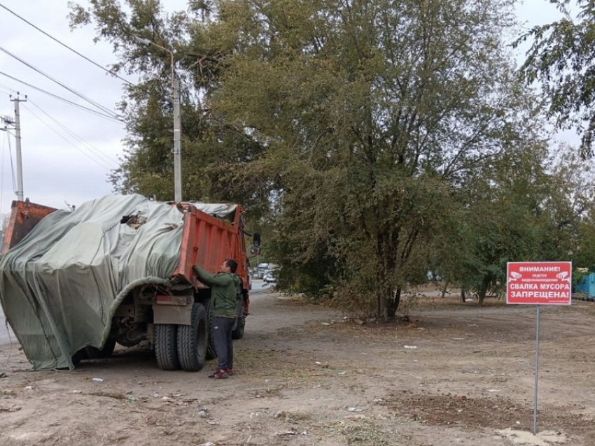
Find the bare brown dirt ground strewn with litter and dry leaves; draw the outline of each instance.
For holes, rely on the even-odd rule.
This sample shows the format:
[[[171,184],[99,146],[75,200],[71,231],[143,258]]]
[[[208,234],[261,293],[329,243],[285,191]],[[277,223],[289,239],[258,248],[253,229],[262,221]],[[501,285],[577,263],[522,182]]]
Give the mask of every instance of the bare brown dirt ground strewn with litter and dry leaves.
[[[262,294],[227,380],[124,348],[33,372],[2,346],[0,445],[595,445],[595,303],[541,308],[533,436],[535,307],[416,299],[383,325]]]

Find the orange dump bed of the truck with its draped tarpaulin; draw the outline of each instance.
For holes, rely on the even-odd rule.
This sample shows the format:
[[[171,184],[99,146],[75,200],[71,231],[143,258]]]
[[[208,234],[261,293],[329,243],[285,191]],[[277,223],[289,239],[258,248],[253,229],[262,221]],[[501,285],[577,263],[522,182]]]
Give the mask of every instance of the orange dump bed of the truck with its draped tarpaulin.
[[[235,205],[171,206],[140,195],[106,196],[72,212],[15,202],[0,303],[34,368],[72,368],[76,352],[104,346],[134,289],[193,289],[195,263],[216,272],[236,259],[248,289],[240,213]]]

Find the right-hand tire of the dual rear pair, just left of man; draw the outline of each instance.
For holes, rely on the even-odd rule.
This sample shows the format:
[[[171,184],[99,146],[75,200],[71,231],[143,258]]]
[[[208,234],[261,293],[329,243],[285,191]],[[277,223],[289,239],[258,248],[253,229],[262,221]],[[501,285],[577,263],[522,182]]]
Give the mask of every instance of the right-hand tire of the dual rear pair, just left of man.
[[[190,325],[178,326],[178,357],[183,370],[196,372],[204,366],[209,343],[207,310],[200,303],[192,308]]]

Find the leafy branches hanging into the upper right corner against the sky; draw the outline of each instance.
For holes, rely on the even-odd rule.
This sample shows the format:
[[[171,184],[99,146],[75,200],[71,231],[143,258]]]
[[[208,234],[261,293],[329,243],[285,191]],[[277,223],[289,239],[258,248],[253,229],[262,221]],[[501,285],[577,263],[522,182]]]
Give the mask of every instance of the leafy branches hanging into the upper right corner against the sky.
[[[521,36],[518,46],[533,38],[521,72],[531,84],[538,80],[549,100],[549,116],[559,129],[577,129],[582,134],[584,157],[593,154],[595,136],[595,3],[574,0],[580,12],[570,15],[570,0],[549,0],[563,17],[533,27]]]

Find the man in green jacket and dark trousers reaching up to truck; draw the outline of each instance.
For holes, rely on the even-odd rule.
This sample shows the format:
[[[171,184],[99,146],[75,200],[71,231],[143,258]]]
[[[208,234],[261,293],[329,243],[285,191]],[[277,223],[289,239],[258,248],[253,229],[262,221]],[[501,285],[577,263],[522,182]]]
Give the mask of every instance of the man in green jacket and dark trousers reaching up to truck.
[[[240,280],[237,274],[237,261],[226,259],[221,272],[209,274],[198,265],[194,272],[204,285],[211,287],[211,314],[213,315],[213,344],[217,354],[217,371],[211,378],[225,379],[234,374],[232,329],[237,318],[236,298]]]

